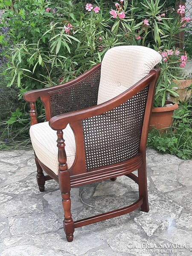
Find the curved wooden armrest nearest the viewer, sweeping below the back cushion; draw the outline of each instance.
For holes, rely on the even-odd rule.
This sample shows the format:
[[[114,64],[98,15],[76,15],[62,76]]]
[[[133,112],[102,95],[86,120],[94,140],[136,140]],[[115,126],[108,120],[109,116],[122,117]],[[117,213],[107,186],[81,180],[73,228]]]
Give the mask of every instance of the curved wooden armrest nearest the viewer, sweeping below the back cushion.
[[[147,76],[138,81],[125,92],[119,94],[119,96],[116,96],[115,98],[107,102],[90,108],[54,116],[49,120],[49,125],[53,130],[62,130],[66,128],[67,124],[70,122],[75,122],[77,120],[82,120],[89,118],[91,116],[96,116],[105,113],[113,108],[116,108],[117,106],[121,105],[122,103],[130,99],[132,96],[137,94],[140,90],[143,90],[143,88],[145,88],[149,84],[152,84],[154,87],[158,75],[159,69],[153,69]],[[152,91],[154,92],[154,88]],[[151,97],[153,97],[153,95]]]

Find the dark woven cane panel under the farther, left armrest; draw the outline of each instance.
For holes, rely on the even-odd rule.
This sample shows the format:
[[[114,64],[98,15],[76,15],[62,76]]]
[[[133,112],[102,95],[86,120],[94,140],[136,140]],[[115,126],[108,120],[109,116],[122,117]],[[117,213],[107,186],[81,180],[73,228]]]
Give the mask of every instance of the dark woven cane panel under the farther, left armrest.
[[[97,105],[100,73],[96,70],[77,84],[49,92],[51,117]]]

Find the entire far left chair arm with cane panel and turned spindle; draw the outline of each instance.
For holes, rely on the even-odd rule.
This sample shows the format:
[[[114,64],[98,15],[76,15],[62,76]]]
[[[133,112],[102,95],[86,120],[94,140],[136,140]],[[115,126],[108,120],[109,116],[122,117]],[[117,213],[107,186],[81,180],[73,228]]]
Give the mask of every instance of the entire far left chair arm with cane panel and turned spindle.
[[[31,125],[37,123],[34,102],[38,97],[44,104],[46,121],[52,116],[96,105],[100,73],[101,63],[65,84],[24,93],[23,98],[30,102]]]

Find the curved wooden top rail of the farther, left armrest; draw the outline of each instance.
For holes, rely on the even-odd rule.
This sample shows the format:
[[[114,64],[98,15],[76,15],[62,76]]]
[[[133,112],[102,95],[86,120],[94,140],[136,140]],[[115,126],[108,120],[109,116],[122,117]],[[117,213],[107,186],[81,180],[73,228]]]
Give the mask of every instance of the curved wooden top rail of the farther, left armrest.
[[[23,99],[26,102],[36,102],[36,100],[39,97],[47,96],[49,92],[54,92],[54,91],[57,91],[57,90],[61,90],[61,89],[70,87],[71,85],[75,85],[75,84],[79,83],[80,81],[84,80],[85,78],[87,78],[87,76],[90,76],[92,73],[94,73],[96,70],[98,70],[100,68],[101,68],[101,63],[95,65],[90,70],[83,73],[81,76],[78,76],[77,78],[75,78],[75,79],[73,79],[73,80],[71,80],[67,83],[55,85],[55,86],[52,86],[52,87],[49,87],[49,88],[31,90],[29,92],[26,92],[26,93],[23,94]]]

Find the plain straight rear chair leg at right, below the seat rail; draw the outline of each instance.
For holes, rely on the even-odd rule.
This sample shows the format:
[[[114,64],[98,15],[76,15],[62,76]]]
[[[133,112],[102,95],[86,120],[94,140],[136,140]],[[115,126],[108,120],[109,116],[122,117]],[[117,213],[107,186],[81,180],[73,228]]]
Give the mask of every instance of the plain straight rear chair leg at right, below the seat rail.
[[[147,172],[146,172],[146,161],[138,169],[138,180],[139,180],[139,195],[143,198],[143,204],[141,205],[141,210],[143,212],[149,211],[148,206],[148,192],[147,192]]]

